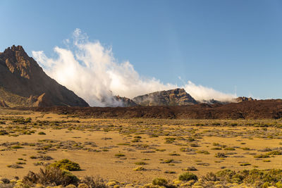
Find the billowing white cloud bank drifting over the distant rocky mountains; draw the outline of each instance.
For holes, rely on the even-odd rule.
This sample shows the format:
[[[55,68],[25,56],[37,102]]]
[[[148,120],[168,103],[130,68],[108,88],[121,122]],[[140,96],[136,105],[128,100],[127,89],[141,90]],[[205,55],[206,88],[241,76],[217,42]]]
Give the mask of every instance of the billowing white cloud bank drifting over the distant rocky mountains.
[[[90,42],[87,35],[79,29],[73,32],[73,45],[72,51],[56,46],[54,51],[58,58],[48,58],[43,51],[32,51],[32,56],[42,65],[47,75],[73,90],[90,106],[121,106],[113,95],[133,98],[177,87],[185,88],[186,92],[199,101],[231,101],[235,97],[235,94],[224,94],[190,81],[178,86],[164,84],[154,77],[141,77],[129,61],[118,63],[111,48],[102,46],[98,41]]]

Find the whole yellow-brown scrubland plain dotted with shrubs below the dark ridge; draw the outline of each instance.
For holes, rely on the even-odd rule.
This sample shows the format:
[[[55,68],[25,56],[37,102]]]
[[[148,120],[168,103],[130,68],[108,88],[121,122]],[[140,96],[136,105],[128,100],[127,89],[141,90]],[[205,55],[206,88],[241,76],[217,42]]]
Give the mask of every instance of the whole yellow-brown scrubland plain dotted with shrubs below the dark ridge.
[[[25,175],[68,159],[79,168],[67,161],[61,169],[80,180],[63,186],[281,187],[281,171],[266,170],[282,169],[281,127],[281,119],[95,119],[0,108],[0,186],[47,183]]]

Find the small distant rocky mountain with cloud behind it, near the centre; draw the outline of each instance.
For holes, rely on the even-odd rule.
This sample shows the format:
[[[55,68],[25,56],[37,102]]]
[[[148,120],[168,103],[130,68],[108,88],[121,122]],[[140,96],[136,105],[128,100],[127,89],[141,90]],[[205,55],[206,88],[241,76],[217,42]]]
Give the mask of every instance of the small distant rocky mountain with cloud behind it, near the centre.
[[[140,106],[181,106],[197,104],[197,101],[186,93],[184,89],[153,92],[132,99]]]

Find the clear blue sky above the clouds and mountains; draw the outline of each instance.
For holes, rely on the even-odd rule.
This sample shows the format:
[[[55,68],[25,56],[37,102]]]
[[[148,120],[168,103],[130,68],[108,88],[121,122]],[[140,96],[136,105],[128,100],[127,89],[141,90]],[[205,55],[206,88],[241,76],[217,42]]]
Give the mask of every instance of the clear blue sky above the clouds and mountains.
[[[75,28],[161,82],[282,98],[282,1],[0,1],[0,51],[55,56]]]

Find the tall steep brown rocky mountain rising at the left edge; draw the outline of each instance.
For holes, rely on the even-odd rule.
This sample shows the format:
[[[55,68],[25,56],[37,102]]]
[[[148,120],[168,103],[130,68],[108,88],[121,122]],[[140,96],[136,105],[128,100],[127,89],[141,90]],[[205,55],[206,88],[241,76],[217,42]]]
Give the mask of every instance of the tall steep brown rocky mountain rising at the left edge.
[[[0,53],[0,100],[7,106],[89,106],[46,75],[22,46]]]

